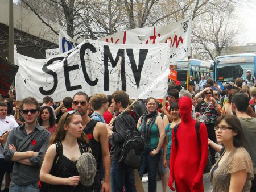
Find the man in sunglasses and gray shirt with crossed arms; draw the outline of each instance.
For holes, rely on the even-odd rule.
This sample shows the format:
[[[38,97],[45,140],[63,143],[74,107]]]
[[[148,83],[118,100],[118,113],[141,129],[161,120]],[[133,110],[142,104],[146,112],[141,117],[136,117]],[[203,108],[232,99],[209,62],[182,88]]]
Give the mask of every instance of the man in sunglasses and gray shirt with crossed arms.
[[[25,123],[10,131],[3,153],[14,162],[9,191],[40,191],[39,173],[51,133],[37,122],[40,106],[35,98],[23,99],[20,111]]]

